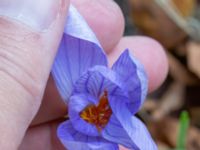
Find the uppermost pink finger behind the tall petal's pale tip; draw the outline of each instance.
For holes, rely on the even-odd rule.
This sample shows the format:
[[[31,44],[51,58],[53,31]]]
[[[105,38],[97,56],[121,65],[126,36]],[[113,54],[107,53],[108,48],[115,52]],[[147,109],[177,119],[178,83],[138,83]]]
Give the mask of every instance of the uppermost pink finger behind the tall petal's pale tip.
[[[109,52],[124,33],[124,17],[113,0],[71,0]]]

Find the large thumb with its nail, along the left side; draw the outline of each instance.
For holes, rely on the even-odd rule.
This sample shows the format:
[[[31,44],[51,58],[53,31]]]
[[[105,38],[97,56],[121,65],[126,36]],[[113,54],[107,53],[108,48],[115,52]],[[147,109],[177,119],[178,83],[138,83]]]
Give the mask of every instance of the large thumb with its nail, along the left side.
[[[0,149],[17,149],[41,103],[68,0],[0,0]]]

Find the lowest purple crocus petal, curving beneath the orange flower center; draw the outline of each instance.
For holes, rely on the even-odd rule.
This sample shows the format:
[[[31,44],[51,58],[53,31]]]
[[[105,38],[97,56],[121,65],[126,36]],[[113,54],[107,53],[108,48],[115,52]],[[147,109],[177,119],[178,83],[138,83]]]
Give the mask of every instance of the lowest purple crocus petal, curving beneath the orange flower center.
[[[77,132],[70,121],[62,123],[57,135],[68,150],[118,150],[117,144],[108,142],[101,137],[89,137]]]

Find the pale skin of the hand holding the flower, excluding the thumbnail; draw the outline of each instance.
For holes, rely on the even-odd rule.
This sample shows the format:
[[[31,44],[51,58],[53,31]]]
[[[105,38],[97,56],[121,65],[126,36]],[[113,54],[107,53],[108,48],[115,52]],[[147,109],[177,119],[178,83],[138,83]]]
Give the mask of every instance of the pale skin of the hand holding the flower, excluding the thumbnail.
[[[122,37],[124,19],[112,0],[72,3],[96,33],[110,65],[129,48],[145,66],[149,92],[162,84],[168,71],[162,46],[147,37]],[[0,149],[64,149],[56,128],[67,110],[49,75],[68,6],[66,0],[61,15],[45,33],[0,18]]]

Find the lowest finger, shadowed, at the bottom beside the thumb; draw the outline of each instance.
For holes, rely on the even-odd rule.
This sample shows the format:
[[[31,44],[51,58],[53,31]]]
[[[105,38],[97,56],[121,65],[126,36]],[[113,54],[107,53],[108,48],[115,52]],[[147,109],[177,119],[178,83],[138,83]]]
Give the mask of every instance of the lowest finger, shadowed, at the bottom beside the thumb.
[[[57,137],[60,122],[33,127],[26,133],[19,150],[65,150]],[[120,146],[120,150],[127,150]]]

